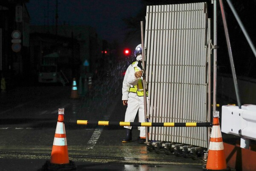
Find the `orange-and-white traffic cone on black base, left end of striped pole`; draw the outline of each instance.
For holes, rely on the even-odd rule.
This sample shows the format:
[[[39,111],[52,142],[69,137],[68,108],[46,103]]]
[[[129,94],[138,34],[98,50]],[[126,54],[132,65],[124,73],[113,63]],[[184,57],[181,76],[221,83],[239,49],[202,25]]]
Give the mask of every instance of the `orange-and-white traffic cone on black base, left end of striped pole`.
[[[55,130],[55,136],[52,145],[51,160],[47,161],[42,170],[73,170],[75,164],[69,160],[67,151],[67,138],[64,125],[64,109],[58,109],[58,122]]]

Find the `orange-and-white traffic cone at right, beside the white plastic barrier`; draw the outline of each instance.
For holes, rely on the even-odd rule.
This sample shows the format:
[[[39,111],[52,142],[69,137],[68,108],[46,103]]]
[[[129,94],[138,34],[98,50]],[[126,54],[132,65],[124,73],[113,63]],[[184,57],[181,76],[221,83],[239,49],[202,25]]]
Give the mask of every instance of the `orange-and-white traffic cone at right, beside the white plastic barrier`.
[[[212,132],[205,170],[228,171],[219,123],[219,111],[213,111]]]

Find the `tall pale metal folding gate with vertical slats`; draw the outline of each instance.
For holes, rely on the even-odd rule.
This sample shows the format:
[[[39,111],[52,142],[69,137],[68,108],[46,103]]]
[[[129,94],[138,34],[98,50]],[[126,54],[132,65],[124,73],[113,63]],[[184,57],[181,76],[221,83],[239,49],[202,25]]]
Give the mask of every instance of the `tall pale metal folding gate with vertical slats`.
[[[207,4],[147,6],[147,117],[207,121]],[[206,127],[150,127],[149,140],[207,147]]]

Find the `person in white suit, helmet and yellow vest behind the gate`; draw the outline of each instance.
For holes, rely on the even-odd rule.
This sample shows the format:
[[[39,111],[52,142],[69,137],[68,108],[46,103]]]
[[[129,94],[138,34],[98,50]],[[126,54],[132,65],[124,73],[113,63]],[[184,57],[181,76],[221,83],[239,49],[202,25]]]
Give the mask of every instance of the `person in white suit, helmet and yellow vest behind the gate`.
[[[139,122],[145,122],[141,44],[137,45],[135,56],[136,61],[127,68],[122,85],[122,101],[124,106],[127,105],[125,122],[134,122],[137,111]],[[132,140],[132,126],[124,126],[124,128],[126,136],[122,143],[127,143]],[[144,143],[145,137],[145,127],[141,126],[139,143]]]

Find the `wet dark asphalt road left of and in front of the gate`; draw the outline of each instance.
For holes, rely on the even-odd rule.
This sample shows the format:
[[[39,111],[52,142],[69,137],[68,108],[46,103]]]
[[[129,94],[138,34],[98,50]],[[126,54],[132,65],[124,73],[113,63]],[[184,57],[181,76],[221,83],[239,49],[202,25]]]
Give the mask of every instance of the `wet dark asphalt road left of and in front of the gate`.
[[[95,86],[89,95],[70,99],[71,86],[16,87],[0,96],[0,171],[38,171],[50,159],[58,118],[64,121],[70,160],[77,170],[197,171],[204,161],[156,154],[133,141],[121,143],[120,126],[82,126],[70,120],[123,121],[120,84]],[[111,91],[110,91],[111,90]],[[121,89],[120,89],[121,90]]]

